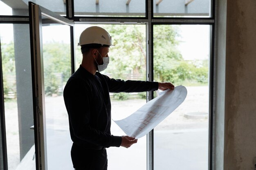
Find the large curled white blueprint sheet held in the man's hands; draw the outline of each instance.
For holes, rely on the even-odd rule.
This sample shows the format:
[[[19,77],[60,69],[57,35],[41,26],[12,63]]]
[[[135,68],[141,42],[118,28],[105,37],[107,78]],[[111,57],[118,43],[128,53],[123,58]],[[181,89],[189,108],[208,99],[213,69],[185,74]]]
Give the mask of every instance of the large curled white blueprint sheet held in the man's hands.
[[[166,90],[139,108],[135,113],[115,123],[130,137],[136,139],[148,134],[155,126],[170,115],[187,95],[184,86]]]

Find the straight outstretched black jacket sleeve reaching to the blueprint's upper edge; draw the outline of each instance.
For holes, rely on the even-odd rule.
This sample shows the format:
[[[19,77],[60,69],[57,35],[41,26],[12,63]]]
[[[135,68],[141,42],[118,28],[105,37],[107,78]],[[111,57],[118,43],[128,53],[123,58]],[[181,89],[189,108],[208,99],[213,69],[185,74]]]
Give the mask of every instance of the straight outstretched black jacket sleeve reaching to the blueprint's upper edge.
[[[109,92],[144,92],[144,91],[156,91],[158,89],[158,82],[148,81],[135,81],[135,80],[121,80],[110,79],[108,76],[103,75],[108,83]]]

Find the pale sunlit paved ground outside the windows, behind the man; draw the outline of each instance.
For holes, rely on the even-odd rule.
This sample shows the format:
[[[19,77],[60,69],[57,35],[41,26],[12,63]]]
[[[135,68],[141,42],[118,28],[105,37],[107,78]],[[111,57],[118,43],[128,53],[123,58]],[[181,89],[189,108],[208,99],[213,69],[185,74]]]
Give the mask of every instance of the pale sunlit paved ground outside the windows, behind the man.
[[[183,116],[184,113],[207,110],[207,89],[188,88],[183,106],[155,128],[154,170],[208,170],[208,121]],[[63,97],[47,97],[46,102],[48,170],[73,170],[70,158],[72,141]],[[113,101],[112,118],[124,118],[144,103],[141,100]],[[112,134],[124,135],[124,132],[112,123]],[[26,166],[31,163],[33,152],[29,152],[27,161],[22,161],[23,167],[27,168],[17,170],[34,170]],[[146,137],[140,138],[131,148],[112,147],[107,152],[109,170],[146,170]]]

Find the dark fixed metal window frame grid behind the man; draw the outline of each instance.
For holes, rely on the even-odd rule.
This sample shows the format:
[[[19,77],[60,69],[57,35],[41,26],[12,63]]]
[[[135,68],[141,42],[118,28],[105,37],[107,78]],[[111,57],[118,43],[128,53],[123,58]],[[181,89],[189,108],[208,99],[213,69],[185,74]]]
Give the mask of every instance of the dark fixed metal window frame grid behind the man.
[[[127,24],[146,24],[146,73],[147,80],[153,81],[153,26],[158,24],[200,24],[210,25],[210,70],[209,70],[209,170],[213,169],[213,124],[214,124],[214,71],[215,71],[215,55],[216,55],[216,0],[211,0],[211,9],[209,18],[163,18],[153,16],[153,0],[146,1],[146,15],[145,17],[86,17],[86,16],[74,16],[74,0],[66,0],[66,16],[65,18],[72,20],[75,24],[81,23],[127,23]],[[18,16],[18,15],[0,15],[0,24],[28,24],[29,16]],[[71,68],[72,73],[75,71],[75,54],[74,54],[74,27],[70,29],[71,41],[72,41],[72,58]],[[0,58],[1,59],[1,58]],[[1,61],[0,61],[1,65]],[[1,74],[0,74],[1,75]],[[4,167],[7,170],[7,151],[6,151],[6,137],[5,137],[5,126],[4,126],[4,103],[3,103],[3,89],[2,89],[2,76],[0,77],[0,93],[1,93],[1,109],[0,109],[0,123],[1,123],[1,134],[2,135],[2,147],[3,150],[0,152],[3,155],[3,164],[0,160],[0,168]],[[153,93],[147,93],[147,101],[153,99]],[[154,169],[154,133],[153,130],[147,135],[147,170]],[[5,145],[5,146],[4,146]]]

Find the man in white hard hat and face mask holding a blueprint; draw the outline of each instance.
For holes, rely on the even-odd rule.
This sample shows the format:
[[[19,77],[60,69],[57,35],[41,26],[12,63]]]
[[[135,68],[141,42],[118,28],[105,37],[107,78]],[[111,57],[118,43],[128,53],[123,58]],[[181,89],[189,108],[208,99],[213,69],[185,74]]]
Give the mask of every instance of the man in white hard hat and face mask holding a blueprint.
[[[135,137],[113,136],[110,132],[111,104],[109,92],[142,92],[173,89],[171,83],[124,81],[111,79],[100,71],[109,63],[111,37],[105,29],[92,26],[79,39],[83,60],[64,89],[64,100],[73,141],[71,149],[75,170],[107,170],[106,148],[129,148]]]

